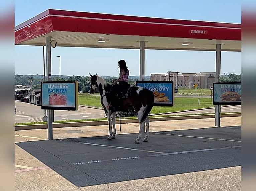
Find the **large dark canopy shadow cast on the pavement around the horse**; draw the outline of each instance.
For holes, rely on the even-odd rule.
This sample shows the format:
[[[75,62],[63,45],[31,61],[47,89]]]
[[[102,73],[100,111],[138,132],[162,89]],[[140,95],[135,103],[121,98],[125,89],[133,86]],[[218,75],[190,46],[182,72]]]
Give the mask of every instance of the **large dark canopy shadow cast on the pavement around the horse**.
[[[77,187],[241,165],[241,126],[16,143]],[[187,151],[187,152],[186,152]],[[54,177],[52,177],[54,179]]]

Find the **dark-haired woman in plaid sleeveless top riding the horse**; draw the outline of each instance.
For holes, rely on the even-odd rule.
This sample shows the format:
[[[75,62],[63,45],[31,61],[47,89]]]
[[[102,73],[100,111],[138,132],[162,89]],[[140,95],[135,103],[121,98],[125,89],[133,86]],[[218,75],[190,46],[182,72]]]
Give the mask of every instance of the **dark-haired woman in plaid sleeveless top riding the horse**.
[[[128,87],[128,77],[129,77],[129,70],[128,67],[126,66],[126,62],[125,60],[119,60],[118,61],[118,67],[120,68],[120,72],[119,72],[119,78],[114,79],[112,81],[112,88],[109,92],[110,95],[110,103],[108,106],[109,108],[115,108],[119,105],[118,102],[120,102],[120,93],[126,88]],[[119,82],[119,84],[114,85],[115,83]],[[118,94],[118,97],[116,97]],[[117,98],[117,99],[116,99]],[[115,100],[117,100],[117,103],[115,102]]]

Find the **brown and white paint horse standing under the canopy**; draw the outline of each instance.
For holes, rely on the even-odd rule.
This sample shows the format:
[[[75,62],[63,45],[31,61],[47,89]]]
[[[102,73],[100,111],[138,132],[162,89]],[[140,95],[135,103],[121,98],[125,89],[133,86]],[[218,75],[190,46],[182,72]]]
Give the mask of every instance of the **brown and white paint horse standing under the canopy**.
[[[98,88],[101,96],[101,105],[104,108],[104,111],[108,117],[109,124],[109,135],[107,140],[115,139],[116,135],[116,112],[114,109],[108,109],[110,95],[109,91],[111,85],[109,85],[103,78],[99,77],[97,74],[91,75],[90,80],[90,94],[93,94],[95,89]],[[148,142],[148,132],[149,132],[149,117],[148,114],[151,111],[154,103],[154,94],[152,91],[139,86],[129,87],[122,91],[122,111],[134,108],[137,117],[139,119],[140,130],[139,135],[134,143],[139,143],[141,139],[142,131],[145,128],[146,123],[146,135],[143,142]],[[113,131],[112,131],[113,125]]]

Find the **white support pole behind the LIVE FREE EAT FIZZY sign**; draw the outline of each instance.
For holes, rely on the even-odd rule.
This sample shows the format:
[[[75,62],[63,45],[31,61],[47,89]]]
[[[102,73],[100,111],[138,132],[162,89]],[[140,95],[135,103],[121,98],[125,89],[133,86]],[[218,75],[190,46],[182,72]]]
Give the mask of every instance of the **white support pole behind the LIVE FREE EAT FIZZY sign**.
[[[46,41],[46,75],[47,81],[51,81],[51,37],[45,37]],[[48,139],[53,139],[52,122],[54,121],[54,111],[48,110]]]

